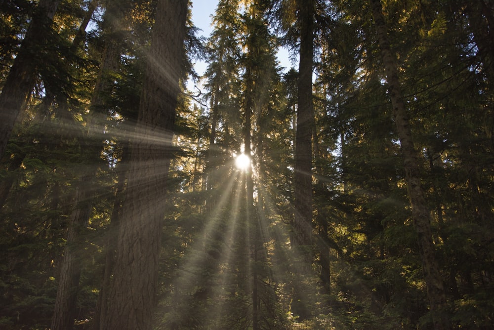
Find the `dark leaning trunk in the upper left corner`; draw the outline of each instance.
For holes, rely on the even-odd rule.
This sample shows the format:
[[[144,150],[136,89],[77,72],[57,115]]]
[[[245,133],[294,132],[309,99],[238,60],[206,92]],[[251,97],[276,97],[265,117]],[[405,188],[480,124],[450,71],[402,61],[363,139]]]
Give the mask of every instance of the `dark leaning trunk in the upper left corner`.
[[[60,0],[40,0],[29,24],[26,36],[0,94],[0,157],[5,152],[15,120],[34,87],[36,52],[44,50],[51,31],[53,16]]]

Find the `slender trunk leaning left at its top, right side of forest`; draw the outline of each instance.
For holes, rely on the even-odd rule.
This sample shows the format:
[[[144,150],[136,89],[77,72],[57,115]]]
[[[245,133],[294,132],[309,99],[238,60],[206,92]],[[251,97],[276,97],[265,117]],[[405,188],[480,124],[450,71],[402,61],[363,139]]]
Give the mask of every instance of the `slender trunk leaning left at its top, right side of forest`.
[[[371,9],[381,48],[381,56],[386,70],[389,95],[393,106],[393,116],[400,138],[401,151],[404,159],[405,178],[412,205],[412,219],[417,233],[417,243],[420,250],[434,329],[447,330],[450,329],[449,321],[443,311],[446,304],[446,295],[436,259],[436,250],[432,241],[430,211],[425,203],[424,191],[420,185],[418,155],[413,146],[412,131],[405,109],[400,81],[398,79],[395,57],[391,52],[388,31],[382,14],[380,0],[371,0]]]

